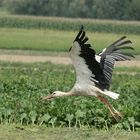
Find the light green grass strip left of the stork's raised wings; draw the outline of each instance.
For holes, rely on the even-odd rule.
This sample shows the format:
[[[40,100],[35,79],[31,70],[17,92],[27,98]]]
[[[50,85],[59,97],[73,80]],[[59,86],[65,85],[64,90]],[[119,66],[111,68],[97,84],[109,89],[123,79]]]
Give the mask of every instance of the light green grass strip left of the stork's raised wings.
[[[0,48],[65,51],[71,44],[72,32],[53,30],[0,29]],[[68,48],[67,45],[69,44]]]

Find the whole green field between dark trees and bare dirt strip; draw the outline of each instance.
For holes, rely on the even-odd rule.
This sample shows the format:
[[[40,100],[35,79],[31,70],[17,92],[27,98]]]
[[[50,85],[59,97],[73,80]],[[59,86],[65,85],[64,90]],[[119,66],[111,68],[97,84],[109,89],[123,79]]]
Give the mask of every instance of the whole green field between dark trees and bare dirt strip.
[[[85,26],[89,42],[100,51],[122,36],[133,42],[140,54],[140,22],[0,15],[0,48],[67,51]]]

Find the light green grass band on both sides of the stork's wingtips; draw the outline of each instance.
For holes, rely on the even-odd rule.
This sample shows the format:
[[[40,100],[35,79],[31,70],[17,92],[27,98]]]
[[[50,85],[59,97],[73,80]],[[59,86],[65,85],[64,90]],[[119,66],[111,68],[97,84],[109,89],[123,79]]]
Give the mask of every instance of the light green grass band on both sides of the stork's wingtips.
[[[23,49],[65,52],[72,45],[78,31],[37,30],[0,28],[1,49]],[[124,34],[91,33],[87,31],[89,43],[99,52]],[[127,35],[133,42],[134,54],[140,54],[139,35]]]

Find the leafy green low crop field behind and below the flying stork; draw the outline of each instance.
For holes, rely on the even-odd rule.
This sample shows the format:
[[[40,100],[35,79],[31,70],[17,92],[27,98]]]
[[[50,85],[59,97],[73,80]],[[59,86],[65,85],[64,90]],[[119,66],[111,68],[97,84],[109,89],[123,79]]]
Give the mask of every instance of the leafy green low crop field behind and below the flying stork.
[[[127,69],[128,71],[129,69]],[[113,76],[111,90],[120,93],[110,102],[123,114],[116,123],[96,98],[69,97],[42,102],[54,90],[68,91],[74,84],[71,66],[50,63],[0,63],[0,123],[51,127],[140,128],[140,74]]]

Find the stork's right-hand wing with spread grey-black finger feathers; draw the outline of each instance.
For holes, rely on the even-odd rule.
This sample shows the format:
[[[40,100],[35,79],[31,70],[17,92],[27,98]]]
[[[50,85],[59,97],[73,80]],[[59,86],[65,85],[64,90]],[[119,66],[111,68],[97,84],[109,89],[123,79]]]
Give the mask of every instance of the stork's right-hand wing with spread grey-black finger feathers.
[[[126,36],[121,37],[120,39],[112,43],[109,47],[105,48],[102,52],[97,54],[100,67],[103,70],[105,76],[106,89],[109,88],[109,85],[111,83],[115,61],[130,60],[131,57],[134,57],[130,53],[123,52],[124,50],[134,49],[130,46],[132,42],[125,39]]]

